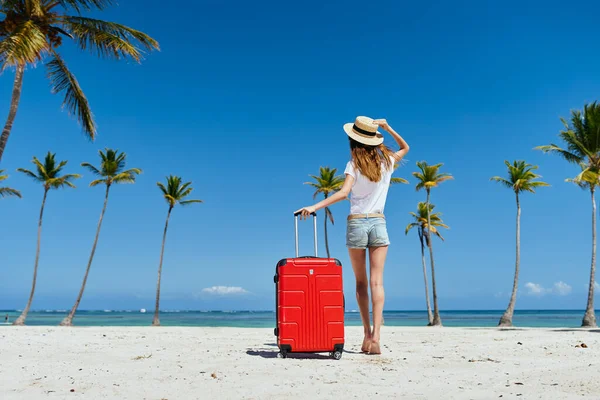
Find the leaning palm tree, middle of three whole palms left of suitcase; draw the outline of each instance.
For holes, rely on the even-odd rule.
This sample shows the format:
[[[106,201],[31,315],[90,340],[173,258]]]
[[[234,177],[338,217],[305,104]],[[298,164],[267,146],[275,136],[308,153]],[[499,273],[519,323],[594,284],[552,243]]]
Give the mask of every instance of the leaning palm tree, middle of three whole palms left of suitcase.
[[[96,252],[96,245],[98,244],[100,228],[102,227],[102,220],[104,219],[104,212],[106,211],[106,204],[108,203],[108,193],[111,186],[119,183],[135,183],[136,175],[142,173],[142,170],[139,168],[125,170],[127,158],[125,153],[119,153],[118,150],[112,149],[105,149],[105,151],[100,150],[98,153],[100,154],[101,158],[100,168],[96,168],[90,163],[82,163],[81,166],[87,168],[92,174],[99,177],[99,179],[92,181],[90,186],[106,186],[104,206],[102,207],[102,212],[100,213],[100,220],[98,221],[98,227],[96,228],[96,237],[94,238],[92,252],[90,253],[90,258],[85,270],[81,289],[79,290],[79,295],[77,296],[77,300],[75,300],[75,304],[69,312],[69,315],[67,315],[60,323],[61,326],[73,325],[73,317],[75,317],[75,312],[77,311],[79,303],[81,302],[81,298],[83,297],[83,291],[85,290],[85,284],[90,273],[90,267],[92,266],[92,261],[94,260],[94,253]]]

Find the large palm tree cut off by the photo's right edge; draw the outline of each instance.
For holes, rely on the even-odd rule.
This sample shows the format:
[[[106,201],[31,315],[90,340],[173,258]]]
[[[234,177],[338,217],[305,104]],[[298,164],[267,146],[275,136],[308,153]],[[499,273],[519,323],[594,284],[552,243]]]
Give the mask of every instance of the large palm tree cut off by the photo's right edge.
[[[592,265],[590,268],[590,283],[588,300],[581,325],[584,327],[596,326],[594,314],[594,284],[596,275],[596,198],[595,192],[600,174],[600,104],[593,102],[585,104],[583,113],[579,110],[571,111],[570,123],[561,118],[565,127],[559,137],[566,144],[566,149],[550,144],[538,146],[537,150],[544,153],[554,153],[567,162],[577,164],[582,172],[572,181],[580,183],[589,189],[592,197]]]

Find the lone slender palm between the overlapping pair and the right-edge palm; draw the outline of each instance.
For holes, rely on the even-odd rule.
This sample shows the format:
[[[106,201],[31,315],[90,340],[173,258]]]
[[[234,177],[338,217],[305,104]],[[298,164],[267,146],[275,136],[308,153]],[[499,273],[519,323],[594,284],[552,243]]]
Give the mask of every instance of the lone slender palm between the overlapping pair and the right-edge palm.
[[[521,263],[521,203],[519,201],[519,194],[522,192],[535,193],[535,189],[538,187],[550,186],[546,182],[537,181],[536,179],[541,178],[540,175],[536,174],[535,170],[538,169],[536,165],[527,164],[525,161],[514,161],[512,164],[508,161],[504,161],[508,168],[508,179],[500,176],[494,176],[490,180],[498,182],[503,186],[509,188],[515,193],[517,200],[517,241],[516,241],[516,261],[515,261],[515,276],[513,279],[513,289],[510,295],[510,301],[508,307],[502,317],[498,326],[512,326],[512,317],[515,312],[515,303],[517,301],[517,288],[519,286],[519,267]]]

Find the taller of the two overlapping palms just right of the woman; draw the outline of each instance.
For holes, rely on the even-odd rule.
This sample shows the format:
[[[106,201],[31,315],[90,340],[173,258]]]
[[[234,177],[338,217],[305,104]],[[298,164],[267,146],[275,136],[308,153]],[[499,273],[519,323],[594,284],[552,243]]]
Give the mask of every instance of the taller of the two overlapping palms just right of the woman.
[[[426,211],[429,208],[429,204],[431,204],[431,189],[438,187],[442,182],[445,182],[450,179],[454,179],[452,175],[448,173],[441,173],[440,167],[444,164],[435,164],[429,165],[425,161],[417,162],[417,168],[419,168],[419,172],[413,172],[413,176],[417,178],[417,191],[421,189],[425,189],[427,192],[427,204]],[[431,215],[427,213],[427,226],[431,225]],[[441,326],[442,318],[440,317],[440,310],[438,308],[437,303],[437,289],[435,282],[435,262],[433,259],[433,246],[432,240],[430,237],[429,230],[425,231],[425,235],[427,237],[427,247],[429,248],[429,263],[431,264],[431,286],[433,292],[433,324],[432,326]]]

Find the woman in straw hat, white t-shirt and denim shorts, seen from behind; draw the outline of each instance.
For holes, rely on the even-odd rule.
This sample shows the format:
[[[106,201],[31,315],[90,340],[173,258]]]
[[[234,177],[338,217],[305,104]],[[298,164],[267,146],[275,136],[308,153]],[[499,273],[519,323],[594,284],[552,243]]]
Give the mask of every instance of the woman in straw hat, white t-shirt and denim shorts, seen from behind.
[[[383,135],[377,128],[389,132],[400,150],[393,152],[383,144]],[[385,119],[373,120],[357,117],[354,123],[344,125],[350,139],[351,160],[344,171],[346,179],[342,189],[333,196],[304,207],[303,218],[331,204],[344,200],[350,194],[350,215],[346,230],[346,246],[356,277],[356,299],[364,326],[365,337],[361,351],[381,354],[380,330],[383,323],[383,266],[390,241],[388,239],[383,209],[387,198],[394,163],[408,153],[408,144],[394,131]],[[369,249],[367,279],[366,256]],[[373,303],[373,329],[369,317],[369,283]]]

